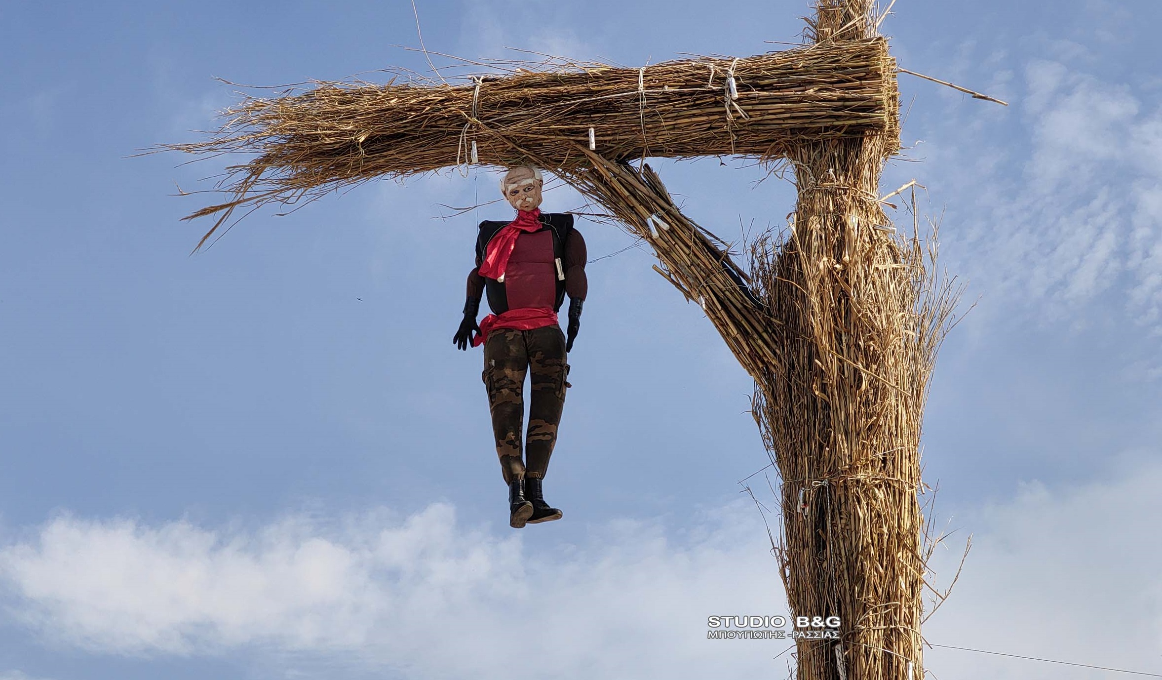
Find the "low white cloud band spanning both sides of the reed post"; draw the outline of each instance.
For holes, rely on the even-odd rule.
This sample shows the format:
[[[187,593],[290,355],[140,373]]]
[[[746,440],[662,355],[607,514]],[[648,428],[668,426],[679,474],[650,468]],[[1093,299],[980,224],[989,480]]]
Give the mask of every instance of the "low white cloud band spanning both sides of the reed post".
[[[1067,489],[1030,482],[974,513],[974,550],[925,636],[1156,671],[1160,486],[1152,463]],[[782,672],[781,642],[705,639],[708,615],[786,611],[753,506],[708,513],[679,538],[637,521],[594,528],[584,545],[531,537],[546,530],[497,535],[447,504],[251,532],[60,516],[0,550],[0,584],[26,624],[101,653],[264,649],[404,678],[509,675],[514,650],[523,672],[558,678]],[[957,557],[933,561],[942,582]],[[927,666],[941,680],[1086,677],[945,649]]]

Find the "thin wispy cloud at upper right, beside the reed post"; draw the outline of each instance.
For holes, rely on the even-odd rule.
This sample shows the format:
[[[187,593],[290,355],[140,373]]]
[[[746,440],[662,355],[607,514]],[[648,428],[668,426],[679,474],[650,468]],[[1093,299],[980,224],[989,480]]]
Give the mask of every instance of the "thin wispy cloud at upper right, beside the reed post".
[[[1162,106],[1041,59],[1006,119],[963,115],[931,131],[926,166],[949,264],[1042,323],[1100,306],[1162,331]]]

